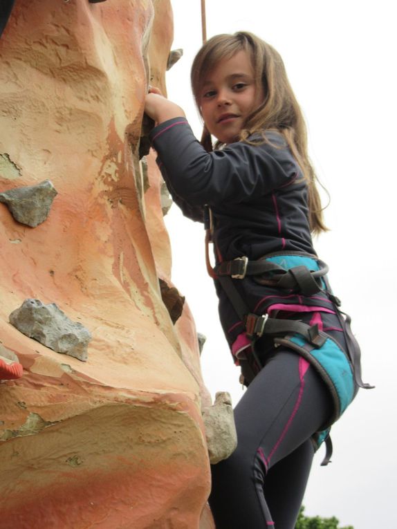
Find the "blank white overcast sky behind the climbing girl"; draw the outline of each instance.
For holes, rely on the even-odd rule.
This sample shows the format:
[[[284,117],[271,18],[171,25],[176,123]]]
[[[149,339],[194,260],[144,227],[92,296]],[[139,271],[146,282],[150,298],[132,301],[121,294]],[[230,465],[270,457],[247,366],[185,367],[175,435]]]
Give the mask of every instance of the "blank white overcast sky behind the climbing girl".
[[[181,104],[196,136],[201,126],[190,95],[190,65],[201,46],[200,0],[172,0],[173,48],[183,58],[167,74],[168,96]],[[397,460],[396,341],[391,322],[394,272],[397,39],[393,1],[207,0],[207,37],[250,30],[275,46],[308,124],[310,156],[331,194],[331,232],[315,242],[330,268],[333,290],[353,316],[362,347],[361,390],[333,427],[333,463],[315,456],[306,514],[335,516],[340,526],[394,529]],[[205,384],[243,391],[218,322],[212,281],[205,273],[203,228],[174,205],[166,217],[173,280],[186,296],[197,330],[207,336]],[[187,274],[187,269],[190,270]],[[194,272],[192,272],[194,270]],[[383,280],[383,283],[380,281]],[[390,290],[388,295],[386,291]],[[248,529],[248,528],[247,528]]]

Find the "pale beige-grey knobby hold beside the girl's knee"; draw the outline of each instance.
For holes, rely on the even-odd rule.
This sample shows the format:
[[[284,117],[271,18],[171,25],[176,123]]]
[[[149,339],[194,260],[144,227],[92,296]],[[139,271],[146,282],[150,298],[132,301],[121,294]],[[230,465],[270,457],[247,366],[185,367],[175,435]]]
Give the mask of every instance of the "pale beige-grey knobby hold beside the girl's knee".
[[[227,459],[237,447],[237,432],[230,394],[219,391],[213,406],[203,409],[205,436],[210,463]]]

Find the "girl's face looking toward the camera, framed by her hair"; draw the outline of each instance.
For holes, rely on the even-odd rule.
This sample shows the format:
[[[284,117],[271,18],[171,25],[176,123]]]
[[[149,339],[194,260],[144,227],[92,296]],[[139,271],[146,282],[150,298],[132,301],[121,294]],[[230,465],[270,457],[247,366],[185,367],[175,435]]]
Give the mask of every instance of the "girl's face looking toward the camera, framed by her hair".
[[[222,143],[239,140],[252,111],[264,100],[246,51],[221,60],[205,76],[200,95],[201,115],[208,131]]]

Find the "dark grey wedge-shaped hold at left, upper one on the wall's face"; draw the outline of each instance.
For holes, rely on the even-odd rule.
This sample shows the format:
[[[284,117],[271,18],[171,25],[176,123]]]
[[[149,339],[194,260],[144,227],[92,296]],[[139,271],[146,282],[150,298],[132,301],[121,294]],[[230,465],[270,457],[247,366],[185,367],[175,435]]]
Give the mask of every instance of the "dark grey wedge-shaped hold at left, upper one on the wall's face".
[[[17,187],[0,193],[0,202],[8,206],[17,222],[36,228],[47,219],[56,195],[57,190],[50,180],[44,180],[38,185]]]

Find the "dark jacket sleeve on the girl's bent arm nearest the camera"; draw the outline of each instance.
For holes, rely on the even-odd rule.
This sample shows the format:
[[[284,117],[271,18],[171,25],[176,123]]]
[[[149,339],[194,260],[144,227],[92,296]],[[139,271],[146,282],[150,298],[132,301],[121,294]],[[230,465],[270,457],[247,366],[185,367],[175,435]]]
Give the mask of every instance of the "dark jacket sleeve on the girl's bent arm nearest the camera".
[[[290,182],[297,165],[286,147],[235,142],[207,153],[185,118],[155,127],[149,138],[174,194],[190,205],[241,203]]]

